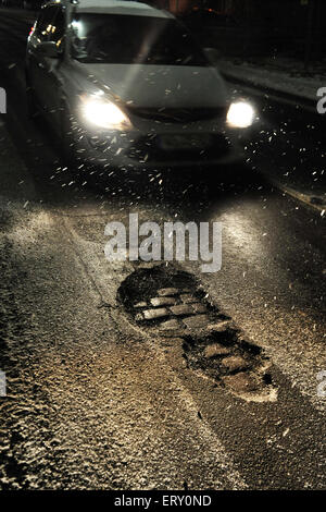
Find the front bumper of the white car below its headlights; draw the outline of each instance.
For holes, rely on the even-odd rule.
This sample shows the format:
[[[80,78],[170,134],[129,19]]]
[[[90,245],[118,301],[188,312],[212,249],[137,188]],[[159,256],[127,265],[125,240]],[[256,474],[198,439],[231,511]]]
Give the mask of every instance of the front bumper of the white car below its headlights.
[[[231,166],[243,160],[242,148],[250,131],[225,123],[176,126],[143,125],[130,132],[103,132],[74,124],[75,155],[82,164],[110,172],[134,173],[167,169]]]

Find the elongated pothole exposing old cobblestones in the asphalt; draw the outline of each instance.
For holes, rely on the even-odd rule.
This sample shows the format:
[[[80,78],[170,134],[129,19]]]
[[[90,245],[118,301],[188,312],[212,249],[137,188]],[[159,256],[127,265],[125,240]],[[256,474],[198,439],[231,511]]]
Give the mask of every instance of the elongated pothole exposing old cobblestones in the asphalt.
[[[190,273],[168,266],[137,269],[121,284],[117,298],[153,338],[181,339],[189,368],[242,399],[276,400],[269,359]]]

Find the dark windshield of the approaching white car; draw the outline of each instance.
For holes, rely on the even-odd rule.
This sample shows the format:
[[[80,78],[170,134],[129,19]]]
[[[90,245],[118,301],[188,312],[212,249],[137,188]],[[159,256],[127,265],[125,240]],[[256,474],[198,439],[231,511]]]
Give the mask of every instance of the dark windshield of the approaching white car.
[[[112,64],[208,65],[179,22],[171,19],[76,13],[73,58]]]

